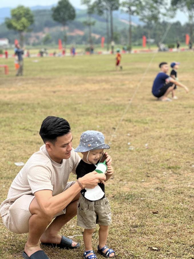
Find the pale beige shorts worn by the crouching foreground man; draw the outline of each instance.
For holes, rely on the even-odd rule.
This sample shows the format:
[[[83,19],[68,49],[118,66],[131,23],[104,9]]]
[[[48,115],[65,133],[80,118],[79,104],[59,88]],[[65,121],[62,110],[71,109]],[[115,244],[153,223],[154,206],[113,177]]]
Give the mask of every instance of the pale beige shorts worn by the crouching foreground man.
[[[67,190],[73,182],[68,182],[65,189]],[[29,206],[32,200],[35,198],[33,194],[25,194],[19,197],[11,206],[9,207],[8,213],[3,216],[3,224],[6,228],[8,228],[11,232],[16,234],[28,233],[29,231],[29,218],[32,214],[29,211]],[[56,214],[53,218],[65,214],[65,209]]]

